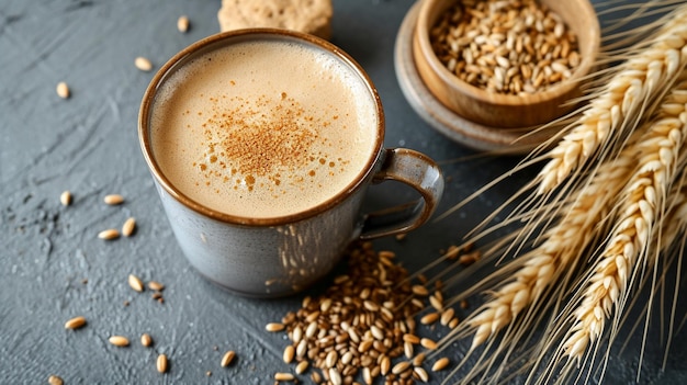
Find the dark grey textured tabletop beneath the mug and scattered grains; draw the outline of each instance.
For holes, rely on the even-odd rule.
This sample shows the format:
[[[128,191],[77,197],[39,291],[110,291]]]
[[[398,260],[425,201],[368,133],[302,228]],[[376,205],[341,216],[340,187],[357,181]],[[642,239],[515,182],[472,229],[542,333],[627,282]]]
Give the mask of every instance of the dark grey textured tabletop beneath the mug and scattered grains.
[[[446,140],[409,109],[395,78],[393,46],[412,4],[336,0],[333,42],[359,60],[378,86],[386,145],[446,161],[451,180],[442,211],[517,159],[451,162],[472,151]],[[281,362],[282,335],[264,332],[263,325],[296,309],[301,296],[239,298],[191,271],[136,137],[138,103],[151,73],[136,70],[134,58],[147,56],[159,66],[217,32],[218,8],[219,0],[0,1],[0,383],[44,384],[58,374],[66,384],[271,384],[273,372],[289,370]],[[188,34],[176,29],[181,14],[191,19]],[[55,94],[63,80],[72,90],[66,101]],[[514,184],[517,179],[404,242],[382,240],[378,248],[397,251],[404,264],[418,269],[508,196]],[[58,201],[64,190],[74,193],[69,207]],[[105,206],[108,193],[121,193],[126,202]],[[385,200],[384,190],[373,193],[373,203]],[[139,224],[134,237],[95,238],[129,215]],[[133,292],[126,284],[129,273],[165,283],[165,304],[149,292]],[[309,294],[320,291],[314,287]],[[64,322],[75,315],[86,316],[88,326],[65,330]],[[154,349],[137,343],[142,332],[153,335]],[[114,348],[106,341],[113,333],[135,343]],[[687,382],[685,338],[684,330],[677,335],[664,373],[658,369],[662,347],[650,343],[642,383]],[[633,339],[611,358],[608,383],[633,383],[639,342]],[[218,362],[228,349],[238,361],[222,369]],[[157,352],[170,358],[166,375],[155,371]],[[207,377],[207,371],[213,375]]]

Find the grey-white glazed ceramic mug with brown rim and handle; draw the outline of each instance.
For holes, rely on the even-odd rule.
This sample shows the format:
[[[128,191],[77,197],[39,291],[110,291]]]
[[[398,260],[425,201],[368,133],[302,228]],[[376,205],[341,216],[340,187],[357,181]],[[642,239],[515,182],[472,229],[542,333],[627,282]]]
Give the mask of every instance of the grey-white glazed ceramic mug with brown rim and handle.
[[[227,215],[193,201],[162,173],[151,147],[150,116],[157,90],[174,70],[207,52],[235,42],[283,39],[315,47],[353,69],[376,103],[373,151],[356,180],[328,201],[296,214],[274,218]],[[230,64],[229,64],[230,65]],[[177,241],[207,280],[245,296],[277,297],[296,293],[329,273],[348,245],[409,231],[435,212],[443,191],[439,167],[427,156],[403,148],[384,149],[384,115],[368,75],[329,42],[285,30],[251,29],[201,39],[173,56],[153,78],[138,117],[144,157]],[[371,214],[361,213],[368,186],[395,180],[421,197]]]

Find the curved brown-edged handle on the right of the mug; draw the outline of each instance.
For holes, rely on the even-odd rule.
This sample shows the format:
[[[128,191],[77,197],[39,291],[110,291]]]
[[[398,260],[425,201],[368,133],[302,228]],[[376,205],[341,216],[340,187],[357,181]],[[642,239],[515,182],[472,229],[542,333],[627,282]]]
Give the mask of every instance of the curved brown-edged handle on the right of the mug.
[[[417,228],[431,217],[443,194],[441,170],[426,155],[407,148],[390,148],[382,156],[382,167],[372,181],[398,181],[415,189],[421,197],[365,214],[360,239],[379,238]]]

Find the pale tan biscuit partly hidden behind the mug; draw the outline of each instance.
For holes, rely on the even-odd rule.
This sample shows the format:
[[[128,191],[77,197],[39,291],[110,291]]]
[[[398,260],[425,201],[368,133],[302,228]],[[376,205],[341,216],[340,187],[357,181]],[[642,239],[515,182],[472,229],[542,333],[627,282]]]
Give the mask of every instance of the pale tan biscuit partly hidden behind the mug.
[[[331,0],[222,0],[222,32],[273,27],[331,37]]]

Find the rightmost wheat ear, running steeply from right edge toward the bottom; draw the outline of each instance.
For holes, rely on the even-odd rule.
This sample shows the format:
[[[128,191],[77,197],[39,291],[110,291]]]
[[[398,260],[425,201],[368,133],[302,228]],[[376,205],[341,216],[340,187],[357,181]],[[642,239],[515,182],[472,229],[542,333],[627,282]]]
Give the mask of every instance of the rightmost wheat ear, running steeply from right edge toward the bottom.
[[[606,248],[596,261],[571,331],[562,343],[570,360],[582,361],[587,347],[604,332],[607,318],[622,313],[631,281],[639,273],[676,171],[687,135],[687,102],[684,90],[674,91],[662,106],[662,117],[651,123],[640,139],[639,167],[621,197],[621,215]]]

